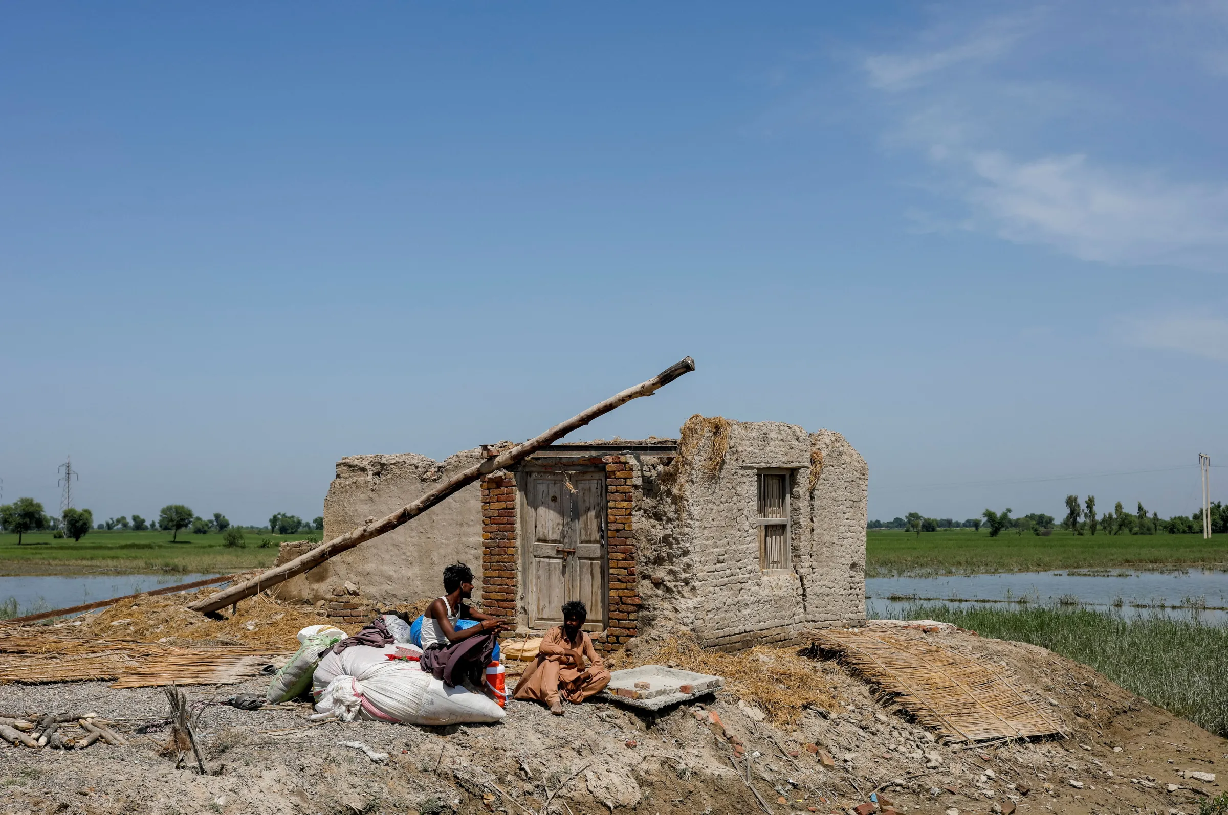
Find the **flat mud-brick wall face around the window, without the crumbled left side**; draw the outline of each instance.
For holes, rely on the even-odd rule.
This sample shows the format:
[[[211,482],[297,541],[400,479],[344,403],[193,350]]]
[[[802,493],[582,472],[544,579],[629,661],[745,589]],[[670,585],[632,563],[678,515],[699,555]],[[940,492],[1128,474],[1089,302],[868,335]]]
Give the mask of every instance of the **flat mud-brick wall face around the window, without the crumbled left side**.
[[[810,626],[863,624],[865,459],[839,433],[783,422],[731,421],[715,475],[701,466],[712,454],[707,433],[672,485],[683,503],[674,549],[688,552],[694,574],[682,619],[704,644],[736,651],[792,641]],[[812,466],[822,468],[813,490]],[[759,561],[763,470],[792,474],[787,570]]]

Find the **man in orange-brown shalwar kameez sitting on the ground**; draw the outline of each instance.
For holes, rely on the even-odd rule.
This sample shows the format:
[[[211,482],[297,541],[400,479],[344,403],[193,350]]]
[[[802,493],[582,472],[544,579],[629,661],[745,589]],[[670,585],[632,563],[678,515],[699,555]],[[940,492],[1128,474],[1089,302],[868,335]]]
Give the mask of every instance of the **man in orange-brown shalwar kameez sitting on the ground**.
[[[592,637],[583,630],[587,619],[588,609],[580,600],[564,604],[562,625],[550,628],[542,638],[537,660],[516,682],[513,698],[544,702],[551,713],[562,716],[560,696],[580,705],[609,684],[610,673],[597,655]]]

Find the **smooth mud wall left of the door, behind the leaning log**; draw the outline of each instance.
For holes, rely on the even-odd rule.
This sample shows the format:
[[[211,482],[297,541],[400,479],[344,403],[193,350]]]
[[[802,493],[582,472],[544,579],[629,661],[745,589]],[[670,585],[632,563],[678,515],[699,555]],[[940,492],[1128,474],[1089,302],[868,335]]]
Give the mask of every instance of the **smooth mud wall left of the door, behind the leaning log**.
[[[341,459],[324,498],[324,540],[383,518],[481,459],[481,448],[442,463],[418,453]],[[334,589],[350,582],[368,603],[414,603],[442,594],[443,567],[463,561],[474,571],[474,600],[480,600],[481,554],[481,486],[475,482],[393,531],[287,581],[280,597],[332,601]]]

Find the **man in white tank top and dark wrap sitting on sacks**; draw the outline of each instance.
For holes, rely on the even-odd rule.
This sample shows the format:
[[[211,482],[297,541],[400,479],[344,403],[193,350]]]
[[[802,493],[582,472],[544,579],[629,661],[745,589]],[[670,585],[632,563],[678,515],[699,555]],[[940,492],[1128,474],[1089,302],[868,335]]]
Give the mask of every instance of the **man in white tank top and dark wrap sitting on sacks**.
[[[476,687],[485,685],[484,673],[495,648],[495,639],[506,628],[502,620],[480,614],[465,603],[473,597],[473,570],[452,563],[443,570],[443,590],[422,614],[422,670],[435,674],[446,685],[470,679]],[[478,625],[457,628],[460,620]],[[475,638],[483,642],[474,642]]]

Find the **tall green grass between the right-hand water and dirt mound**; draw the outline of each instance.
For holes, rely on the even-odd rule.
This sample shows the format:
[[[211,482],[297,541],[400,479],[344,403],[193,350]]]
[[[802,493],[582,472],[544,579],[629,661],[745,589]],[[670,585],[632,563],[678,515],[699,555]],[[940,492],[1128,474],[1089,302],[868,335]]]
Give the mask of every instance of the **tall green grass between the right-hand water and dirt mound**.
[[[1007,610],[946,603],[911,605],[903,619],[952,622],[985,637],[1049,648],[1228,736],[1228,627],[1164,616],[1125,620],[1081,608]]]

